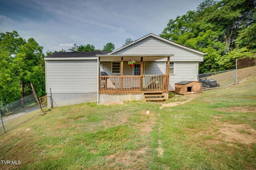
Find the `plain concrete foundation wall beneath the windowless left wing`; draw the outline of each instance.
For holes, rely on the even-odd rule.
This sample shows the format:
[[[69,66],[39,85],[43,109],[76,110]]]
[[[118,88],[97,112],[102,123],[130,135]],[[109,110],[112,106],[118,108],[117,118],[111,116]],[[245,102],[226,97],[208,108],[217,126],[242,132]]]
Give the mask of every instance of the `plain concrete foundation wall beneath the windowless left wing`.
[[[47,96],[51,96],[51,94],[48,93]],[[53,107],[94,101],[97,101],[97,93],[52,93]],[[48,97],[47,106],[48,108],[51,108],[50,97]]]

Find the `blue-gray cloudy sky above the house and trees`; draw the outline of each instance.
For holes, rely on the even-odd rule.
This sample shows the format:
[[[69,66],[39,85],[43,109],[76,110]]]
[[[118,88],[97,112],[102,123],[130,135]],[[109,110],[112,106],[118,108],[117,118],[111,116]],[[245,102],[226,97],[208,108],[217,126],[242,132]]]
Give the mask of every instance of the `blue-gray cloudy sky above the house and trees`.
[[[0,0],[0,32],[33,37],[44,51],[92,44],[116,49],[131,37],[159,35],[170,19],[203,0]]]

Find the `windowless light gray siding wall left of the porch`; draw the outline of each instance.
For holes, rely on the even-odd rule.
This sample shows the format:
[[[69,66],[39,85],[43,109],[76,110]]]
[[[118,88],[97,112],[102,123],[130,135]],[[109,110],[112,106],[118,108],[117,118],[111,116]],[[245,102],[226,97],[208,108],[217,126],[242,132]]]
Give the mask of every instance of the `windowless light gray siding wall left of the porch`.
[[[97,93],[97,61],[46,61],[46,91]]]

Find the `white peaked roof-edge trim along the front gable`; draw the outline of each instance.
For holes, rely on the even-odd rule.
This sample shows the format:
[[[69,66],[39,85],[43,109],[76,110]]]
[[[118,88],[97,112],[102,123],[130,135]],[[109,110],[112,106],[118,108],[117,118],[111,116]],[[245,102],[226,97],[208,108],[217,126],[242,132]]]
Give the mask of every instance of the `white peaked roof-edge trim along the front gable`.
[[[186,46],[184,46],[184,45],[175,43],[175,42],[173,42],[173,41],[170,41],[170,40],[168,40],[168,39],[164,39],[164,38],[162,38],[162,37],[159,37],[159,36],[157,36],[157,35],[154,35],[154,34],[150,33],[150,34],[148,34],[148,35],[146,35],[146,36],[144,36],[144,37],[142,37],[142,38],[140,38],[140,39],[138,39],[138,40],[136,40],[136,41],[134,41],[134,42],[132,42],[132,43],[130,43],[130,44],[128,44],[128,45],[125,45],[125,46],[123,46],[123,47],[121,47],[121,48],[119,48],[119,49],[116,49],[116,50],[114,50],[114,51],[108,53],[108,55],[117,53],[118,51],[124,51],[124,49],[126,49],[127,47],[130,47],[131,45],[134,45],[134,44],[136,44],[136,43],[138,43],[138,42],[140,42],[140,41],[143,41],[144,39],[147,39],[148,37],[153,37],[154,39],[158,39],[158,40],[160,40],[160,41],[162,41],[162,42],[164,42],[164,43],[168,43],[168,44],[174,45],[174,46],[176,46],[176,47],[179,47],[180,49],[184,49],[184,50],[187,50],[187,51],[191,51],[191,52],[196,53],[196,54],[199,54],[199,55],[205,55],[205,54],[206,54],[206,53],[203,53],[203,52],[201,52],[201,51],[198,51],[198,50],[195,50],[195,49],[186,47]]]

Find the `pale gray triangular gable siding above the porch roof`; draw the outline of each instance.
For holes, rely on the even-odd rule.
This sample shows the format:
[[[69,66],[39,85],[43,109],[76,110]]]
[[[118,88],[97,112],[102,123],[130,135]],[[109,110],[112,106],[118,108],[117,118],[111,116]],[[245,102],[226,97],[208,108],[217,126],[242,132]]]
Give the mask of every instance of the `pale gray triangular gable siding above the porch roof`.
[[[182,49],[154,37],[147,37],[113,54],[174,54],[174,57],[170,57],[170,61],[203,61],[203,55]],[[162,59],[162,61],[166,61],[166,59]]]

